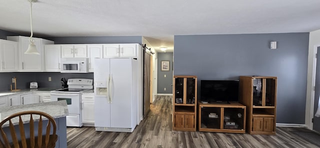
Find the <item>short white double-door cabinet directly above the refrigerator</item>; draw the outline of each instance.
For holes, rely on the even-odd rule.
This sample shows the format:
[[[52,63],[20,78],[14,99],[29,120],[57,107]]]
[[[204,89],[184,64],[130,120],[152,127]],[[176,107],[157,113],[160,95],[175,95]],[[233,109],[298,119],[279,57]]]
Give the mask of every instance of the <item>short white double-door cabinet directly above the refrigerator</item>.
[[[109,57],[136,57],[136,43],[104,44],[103,58]]]

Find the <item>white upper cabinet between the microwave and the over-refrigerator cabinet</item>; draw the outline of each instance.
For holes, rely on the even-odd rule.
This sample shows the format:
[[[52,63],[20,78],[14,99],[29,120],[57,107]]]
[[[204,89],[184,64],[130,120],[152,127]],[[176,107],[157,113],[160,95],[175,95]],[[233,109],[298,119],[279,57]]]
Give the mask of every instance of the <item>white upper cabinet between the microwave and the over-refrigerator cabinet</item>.
[[[94,71],[94,58],[102,58],[102,45],[101,44],[88,44],[88,57],[89,57],[89,72]]]

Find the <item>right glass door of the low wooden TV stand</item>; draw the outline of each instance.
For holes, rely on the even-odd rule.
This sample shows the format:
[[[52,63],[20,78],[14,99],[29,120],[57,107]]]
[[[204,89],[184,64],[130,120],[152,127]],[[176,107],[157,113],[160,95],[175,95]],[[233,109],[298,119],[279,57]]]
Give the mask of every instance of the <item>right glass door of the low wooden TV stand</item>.
[[[243,129],[244,108],[224,108],[223,128]]]

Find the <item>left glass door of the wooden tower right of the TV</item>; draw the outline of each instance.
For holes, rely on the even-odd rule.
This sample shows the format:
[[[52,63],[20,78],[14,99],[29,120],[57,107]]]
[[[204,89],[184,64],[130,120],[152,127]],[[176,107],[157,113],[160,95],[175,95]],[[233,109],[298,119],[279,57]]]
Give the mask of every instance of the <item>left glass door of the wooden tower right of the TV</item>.
[[[262,105],[262,78],[253,78],[253,106]]]

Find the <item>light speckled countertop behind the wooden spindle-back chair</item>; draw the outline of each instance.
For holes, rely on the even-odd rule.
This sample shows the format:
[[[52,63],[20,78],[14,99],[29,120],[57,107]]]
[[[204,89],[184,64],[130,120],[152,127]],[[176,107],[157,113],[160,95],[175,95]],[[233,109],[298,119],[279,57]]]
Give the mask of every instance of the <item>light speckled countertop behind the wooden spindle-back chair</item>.
[[[5,117],[21,112],[21,111],[28,111],[28,110],[35,110],[35,111],[42,111],[53,118],[64,117],[68,115],[68,108],[65,100],[59,101],[50,101],[50,102],[41,102],[35,104],[25,104],[25,105],[16,105],[16,106],[7,106],[0,108],[0,121],[2,121]],[[34,121],[38,121],[39,116],[33,116]],[[18,118],[16,120],[12,120],[12,123],[18,124]],[[26,115],[25,118],[22,118],[23,123],[28,123],[30,117]],[[8,122],[3,124],[2,127],[8,126]]]

